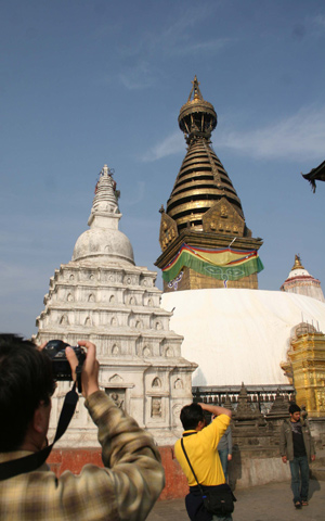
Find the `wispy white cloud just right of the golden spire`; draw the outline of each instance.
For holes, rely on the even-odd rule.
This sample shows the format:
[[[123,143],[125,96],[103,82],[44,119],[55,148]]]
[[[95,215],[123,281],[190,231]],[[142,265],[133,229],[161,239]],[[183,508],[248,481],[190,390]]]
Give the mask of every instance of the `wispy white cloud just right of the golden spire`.
[[[263,128],[236,131],[223,128],[218,149],[253,158],[324,158],[325,107],[310,106]]]

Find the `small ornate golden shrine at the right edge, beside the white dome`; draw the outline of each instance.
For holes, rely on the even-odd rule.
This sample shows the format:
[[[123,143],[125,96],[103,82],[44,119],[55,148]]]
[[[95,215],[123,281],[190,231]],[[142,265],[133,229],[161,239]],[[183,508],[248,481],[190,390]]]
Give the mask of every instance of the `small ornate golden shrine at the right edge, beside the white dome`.
[[[287,353],[281,364],[296,390],[296,402],[306,406],[309,418],[325,416],[325,334],[301,322],[295,328]]]

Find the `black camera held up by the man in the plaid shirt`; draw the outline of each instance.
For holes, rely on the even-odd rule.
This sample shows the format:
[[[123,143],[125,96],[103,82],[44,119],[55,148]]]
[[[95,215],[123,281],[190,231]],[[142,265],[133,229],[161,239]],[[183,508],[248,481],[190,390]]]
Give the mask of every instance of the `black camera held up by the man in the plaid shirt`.
[[[52,360],[52,370],[53,370],[54,380],[61,380],[61,381],[73,380],[72,368],[65,356],[66,347],[72,347],[72,350],[74,350],[78,358],[79,366],[82,366],[83,361],[86,360],[86,352],[79,345],[72,346],[66,342],[63,342],[63,340],[50,340],[44,346],[43,352],[47,353],[47,355]]]

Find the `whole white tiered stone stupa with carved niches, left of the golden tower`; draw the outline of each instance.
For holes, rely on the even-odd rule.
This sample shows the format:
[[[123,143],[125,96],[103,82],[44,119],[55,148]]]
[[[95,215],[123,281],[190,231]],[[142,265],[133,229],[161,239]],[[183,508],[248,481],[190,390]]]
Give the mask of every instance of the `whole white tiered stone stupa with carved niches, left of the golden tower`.
[[[181,355],[182,336],[169,329],[170,312],[160,307],[156,272],[134,264],[112,171],[100,174],[89,218],[90,229],[76,242],[73,259],[50,279],[44,310],[37,318],[38,344],[61,339],[70,345],[89,340],[98,347],[100,385],[118,406],[146,428],[160,445],[181,432],[180,410],[192,401],[195,364]],[[50,434],[70,387],[60,383]],[[95,446],[96,429],[79,401],[61,446]]]

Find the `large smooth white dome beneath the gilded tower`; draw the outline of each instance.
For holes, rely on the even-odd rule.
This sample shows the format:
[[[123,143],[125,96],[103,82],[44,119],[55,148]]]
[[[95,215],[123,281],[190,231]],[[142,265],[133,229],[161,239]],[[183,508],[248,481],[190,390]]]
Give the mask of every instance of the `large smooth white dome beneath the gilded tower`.
[[[280,364],[294,328],[303,319],[325,332],[324,303],[282,291],[176,291],[162,294],[161,307],[174,308],[182,356],[199,366],[194,386],[288,384]]]

